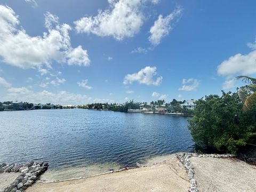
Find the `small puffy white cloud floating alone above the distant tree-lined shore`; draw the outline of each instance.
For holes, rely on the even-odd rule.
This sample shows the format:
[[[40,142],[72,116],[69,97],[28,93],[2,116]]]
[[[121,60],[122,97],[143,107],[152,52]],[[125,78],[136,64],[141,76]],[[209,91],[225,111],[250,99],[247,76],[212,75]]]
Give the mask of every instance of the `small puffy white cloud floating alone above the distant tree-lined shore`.
[[[139,82],[140,84],[146,85],[160,85],[162,83],[163,77],[156,76],[156,67],[145,67],[141,69],[138,73],[128,74],[124,77],[124,84],[131,84],[132,82]]]

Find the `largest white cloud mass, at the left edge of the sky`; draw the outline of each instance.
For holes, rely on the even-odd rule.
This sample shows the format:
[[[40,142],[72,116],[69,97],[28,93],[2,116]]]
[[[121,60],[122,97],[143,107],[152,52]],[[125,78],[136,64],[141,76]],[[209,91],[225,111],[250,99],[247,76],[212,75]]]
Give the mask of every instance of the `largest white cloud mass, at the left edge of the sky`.
[[[60,25],[59,18],[49,12],[45,14],[43,36],[30,36],[19,25],[18,15],[9,6],[0,5],[0,57],[6,64],[23,69],[51,68],[52,61],[69,65],[88,66],[87,51],[81,46],[70,45],[67,24]]]

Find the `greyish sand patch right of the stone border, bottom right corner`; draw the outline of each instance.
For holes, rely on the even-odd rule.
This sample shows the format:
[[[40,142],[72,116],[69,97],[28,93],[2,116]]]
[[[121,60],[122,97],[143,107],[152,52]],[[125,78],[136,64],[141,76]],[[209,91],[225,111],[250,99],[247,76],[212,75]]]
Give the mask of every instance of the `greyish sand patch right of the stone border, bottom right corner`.
[[[191,157],[199,191],[256,191],[256,166],[238,159]]]

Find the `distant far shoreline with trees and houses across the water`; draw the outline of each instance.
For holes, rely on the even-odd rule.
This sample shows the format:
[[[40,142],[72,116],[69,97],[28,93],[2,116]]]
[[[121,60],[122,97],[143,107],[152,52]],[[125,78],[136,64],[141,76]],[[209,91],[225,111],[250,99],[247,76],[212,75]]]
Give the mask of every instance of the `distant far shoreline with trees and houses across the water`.
[[[184,101],[177,101],[173,99],[170,103],[165,100],[157,100],[147,102],[134,102],[133,100],[125,103],[92,103],[89,105],[54,105],[52,103],[34,104],[28,102],[18,101],[4,101],[0,102],[0,111],[7,110],[37,110],[37,109],[90,109],[90,110],[110,110],[124,113],[157,113],[166,115],[193,115],[195,108],[195,100],[190,100],[189,105],[185,105]],[[193,107],[193,108],[192,108]]]

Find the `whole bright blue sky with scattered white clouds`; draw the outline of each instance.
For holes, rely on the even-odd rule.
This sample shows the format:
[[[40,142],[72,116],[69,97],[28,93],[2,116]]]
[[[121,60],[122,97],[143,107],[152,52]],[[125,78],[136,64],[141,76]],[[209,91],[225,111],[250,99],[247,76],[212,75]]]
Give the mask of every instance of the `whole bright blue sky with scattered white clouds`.
[[[256,76],[256,1],[0,0],[0,101],[199,99]]]

